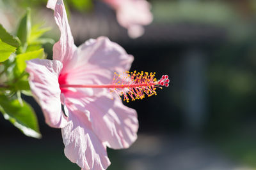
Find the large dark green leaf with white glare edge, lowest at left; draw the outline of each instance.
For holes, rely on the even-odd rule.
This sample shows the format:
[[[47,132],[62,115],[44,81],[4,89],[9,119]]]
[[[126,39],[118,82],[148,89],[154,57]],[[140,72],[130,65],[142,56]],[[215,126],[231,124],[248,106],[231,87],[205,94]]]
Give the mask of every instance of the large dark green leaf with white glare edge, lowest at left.
[[[0,111],[6,120],[9,120],[26,136],[41,138],[35,111],[25,101],[22,103],[23,106],[20,106],[18,99],[10,100],[6,96],[0,96]]]

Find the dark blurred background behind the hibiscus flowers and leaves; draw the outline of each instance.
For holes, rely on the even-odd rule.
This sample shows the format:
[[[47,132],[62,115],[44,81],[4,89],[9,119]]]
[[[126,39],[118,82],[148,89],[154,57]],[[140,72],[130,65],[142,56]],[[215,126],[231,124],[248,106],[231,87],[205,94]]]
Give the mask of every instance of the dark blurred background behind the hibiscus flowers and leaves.
[[[10,31],[31,8],[45,37],[59,29],[47,1],[0,1],[0,23]],[[256,1],[151,0],[154,21],[131,39],[115,11],[102,1],[65,1],[76,45],[108,36],[134,55],[131,70],[168,74],[170,87],[133,101],[138,140],[126,150],[108,149],[109,170],[256,169]],[[52,45],[44,46],[48,59]],[[60,129],[44,122],[42,139],[24,136],[0,115],[0,169],[79,169],[63,153]]]

